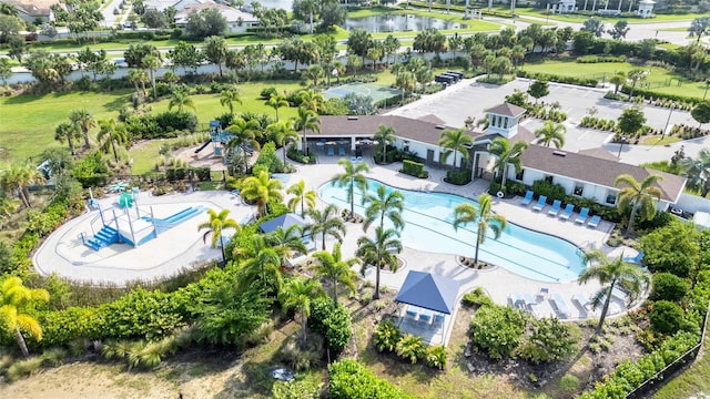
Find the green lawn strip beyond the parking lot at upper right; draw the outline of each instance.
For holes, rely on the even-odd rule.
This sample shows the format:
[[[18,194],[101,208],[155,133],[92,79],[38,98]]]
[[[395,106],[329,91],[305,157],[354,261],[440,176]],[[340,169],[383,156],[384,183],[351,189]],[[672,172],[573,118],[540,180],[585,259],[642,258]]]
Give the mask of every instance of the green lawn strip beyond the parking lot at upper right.
[[[528,72],[541,72],[565,76],[585,76],[589,79],[608,80],[616,72],[628,72],[638,68],[628,62],[599,62],[599,63],[577,63],[574,60],[554,60],[537,63],[526,63],[523,69]],[[646,83],[649,89],[667,94],[678,94],[686,96],[702,98],[706,84],[702,82],[691,82],[681,75],[669,72],[661,68],[643,68],[649,71]],[[641,83],[640,86],[643,86]]]

